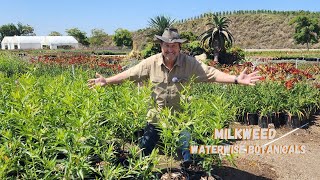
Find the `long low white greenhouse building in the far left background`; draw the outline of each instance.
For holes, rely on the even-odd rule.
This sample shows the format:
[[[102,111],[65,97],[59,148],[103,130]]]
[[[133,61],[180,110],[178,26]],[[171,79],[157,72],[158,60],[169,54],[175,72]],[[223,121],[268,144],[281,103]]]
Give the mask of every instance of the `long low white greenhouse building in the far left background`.
[[[2,49],[68,49],[78,46],[73,36],[6,36],[1,41]]]

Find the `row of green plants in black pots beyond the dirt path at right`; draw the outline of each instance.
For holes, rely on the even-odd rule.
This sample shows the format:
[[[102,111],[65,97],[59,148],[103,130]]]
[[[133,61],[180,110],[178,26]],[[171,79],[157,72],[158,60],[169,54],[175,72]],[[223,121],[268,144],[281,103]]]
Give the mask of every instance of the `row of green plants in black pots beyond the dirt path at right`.
[[[299,126],[320,107],[319,90],[303,82],[297,83],[292,89],[286,89],[277,81],[261,82],[253,87],[220,84],[198,86],[198,93],[207,91],[222,94],[235,105],[238,108],[238,121],[254,125],[259,122],[261,127],[267,127],[268,123],[274,121],[277,121],[276,125],[286,122],[291,127]],[[277,120],[280,113],[287,114],[287,121]],[[291,123],[296,117],[299,123]]]

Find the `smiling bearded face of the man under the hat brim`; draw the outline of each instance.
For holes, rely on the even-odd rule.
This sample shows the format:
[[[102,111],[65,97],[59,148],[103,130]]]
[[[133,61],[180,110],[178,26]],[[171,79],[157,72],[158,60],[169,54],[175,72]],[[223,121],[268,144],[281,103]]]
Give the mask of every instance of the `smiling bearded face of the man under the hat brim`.
[[[161,51],[165,60],[174,61],[180,53],[180,43],[161,43]]]

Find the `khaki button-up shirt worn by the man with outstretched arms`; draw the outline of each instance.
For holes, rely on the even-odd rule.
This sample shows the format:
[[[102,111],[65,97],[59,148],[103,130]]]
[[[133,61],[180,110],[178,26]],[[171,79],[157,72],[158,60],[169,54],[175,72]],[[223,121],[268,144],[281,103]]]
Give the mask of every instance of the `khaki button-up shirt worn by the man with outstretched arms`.
[[[172,70],[164,64],[162,53],[142,60],[128,69],[129,79],[144,81],[150,79],[153,86],[152,98],[160,107],[179,109],[182,85],[194,78],[195,82],[213,82],[219,70],[197,61],[194,57],[180,53]]]

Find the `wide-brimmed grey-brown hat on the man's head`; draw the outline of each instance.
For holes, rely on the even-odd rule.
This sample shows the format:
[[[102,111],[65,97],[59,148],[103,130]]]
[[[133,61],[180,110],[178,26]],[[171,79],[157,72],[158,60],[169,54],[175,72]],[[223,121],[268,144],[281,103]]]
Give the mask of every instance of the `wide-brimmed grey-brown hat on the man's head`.
[[[180,39],[180,35],[176,28],[166,28],[162,36],[155,35],[155,40],[166,43],[184,43],[187,41],[187,39]]]

